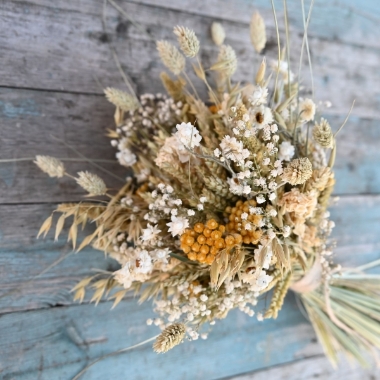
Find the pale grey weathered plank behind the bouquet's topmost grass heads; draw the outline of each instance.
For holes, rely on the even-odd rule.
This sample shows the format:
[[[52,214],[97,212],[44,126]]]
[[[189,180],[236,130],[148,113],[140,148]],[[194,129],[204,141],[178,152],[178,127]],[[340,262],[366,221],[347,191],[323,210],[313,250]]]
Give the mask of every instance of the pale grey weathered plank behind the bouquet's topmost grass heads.
[[[215,8],[224,3],[227,4],[213,2]],[[121,4],[155,39],[174,40],[171,29],[176,24],[184,23],[194,28],[203,41],[202,58],[206,64],[215,59],[217,49],[209,37],[211,20],[208,16],[132,2]],[[228,11],[230,7],[226,5],[224,10]],[[0,46],[7,54],[0,68],[0,85],[100,93],[99,82],[102,86],[120,82],[107,42],[112,41],[138,92],[154,92],[160,88],[158,75],[163,67],[155,53],[154,41],[131,26],[112,7],[108,9],[106,35],[101,27],[101,6],[97,3],[59,1],[52,7],[46,1],[8,1],[2,4],[2,14],[7,33],[0,35]],[[236,80],[252,78],[261,60],[250,45],[247,15],[244,21],[238,17],[234,21],[225,21],[227,43],[240,57]],[[266,55],[275,58],[277,48],[271,20],[268,21]],[[297,72],[302,33],[297,27],[295,29],[292,57],[293,70]],[[378,49],[314,37],[310,38],[310,49],[319,98],[331,100],[337,114],[346,114],[352,101],[357,99],[355,114],[380,117],[380,100],[376,92],[380,82]],[[41,57],[44,57],[44,70],[39,70]],[[10,66],[11,72],[8,70]],[[304,72],[307,85],[310,82],[307,67]],[[358,97],[358,93],[366,96]]]

